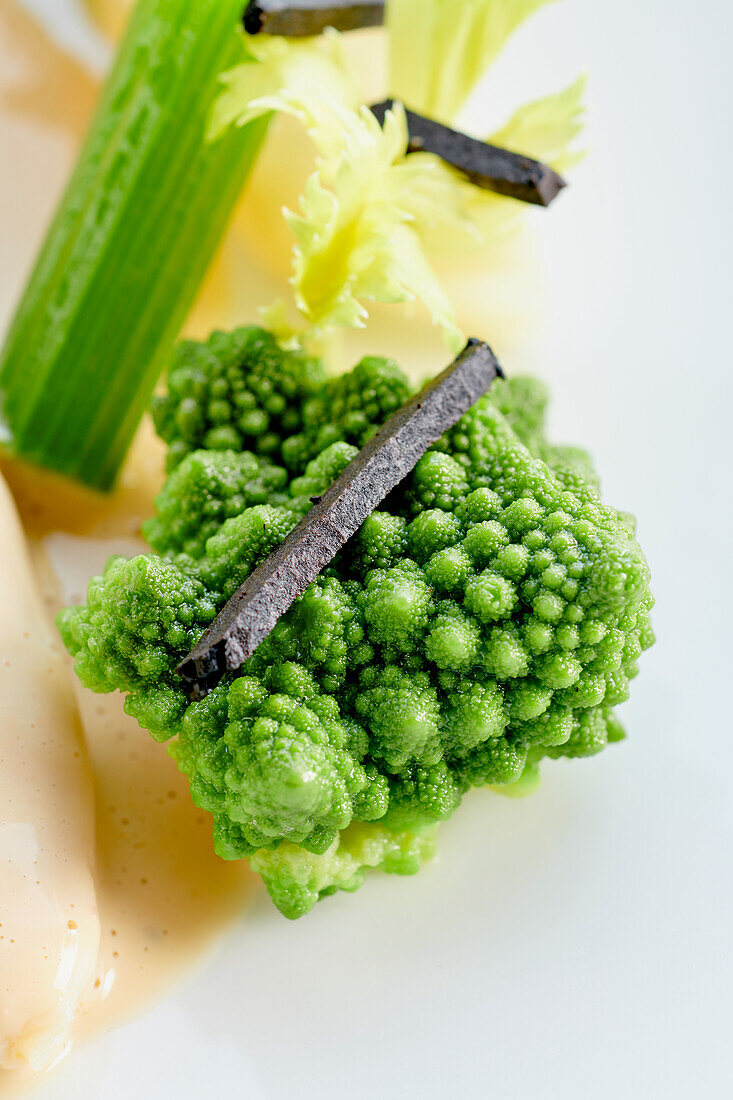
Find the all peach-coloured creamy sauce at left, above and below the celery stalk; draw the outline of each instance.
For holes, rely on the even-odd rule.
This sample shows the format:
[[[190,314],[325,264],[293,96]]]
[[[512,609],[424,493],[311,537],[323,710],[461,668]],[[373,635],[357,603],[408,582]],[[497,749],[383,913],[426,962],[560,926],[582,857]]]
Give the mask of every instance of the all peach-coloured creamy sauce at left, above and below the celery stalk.
[[[0,0],[0,330],[95,95]],[[209,285],[215,301],[216,274]],[[242,911],[254,881],[217,858],[207,815],[121,697],[80,688],[53,627],[57,607],[83,600],[109,554],[143,549],[161,457],[146,427],[109,497],[2,463],[0,1092],[28,1088],[75,1038],[164,997]]]

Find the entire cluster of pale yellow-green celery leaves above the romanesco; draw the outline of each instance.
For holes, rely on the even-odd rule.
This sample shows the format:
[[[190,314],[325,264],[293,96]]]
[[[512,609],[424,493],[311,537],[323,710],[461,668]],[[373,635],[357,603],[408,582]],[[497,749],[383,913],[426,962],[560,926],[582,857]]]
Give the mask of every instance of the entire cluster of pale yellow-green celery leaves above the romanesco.
[[[411,106],[452,121],[473,85],[515,28],[550,0],[392,0],[392,90]],[[249,61],[226,74],[212,132],[284,112],[307,129],[315,173],[297,212],[284,211],[295,237],[295,304],[309,338],[362,328],[365,302],[422,301],[451,350],[463,334],[434,263],[466,245],[513,230],[523,213],[513,199],[469,184],[438,157],[407,152],[400,102],[381,128],[357,109],[358,91],[340,38],[294,42],[247,38]],[[580,129],[582,84],[521,108],[492,139],[567,166]],[[286,322],[283,339],[303,328]]]

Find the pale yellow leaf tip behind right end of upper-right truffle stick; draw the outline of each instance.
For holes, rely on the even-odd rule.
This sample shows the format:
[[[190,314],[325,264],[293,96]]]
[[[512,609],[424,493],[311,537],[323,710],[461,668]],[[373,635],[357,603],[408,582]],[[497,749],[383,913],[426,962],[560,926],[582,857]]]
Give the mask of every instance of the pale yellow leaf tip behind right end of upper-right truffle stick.
[[[572,143],[583,129],[586,84],[581,76],[554,96],[525,103],[489,141],[566,170],[583,156]]]

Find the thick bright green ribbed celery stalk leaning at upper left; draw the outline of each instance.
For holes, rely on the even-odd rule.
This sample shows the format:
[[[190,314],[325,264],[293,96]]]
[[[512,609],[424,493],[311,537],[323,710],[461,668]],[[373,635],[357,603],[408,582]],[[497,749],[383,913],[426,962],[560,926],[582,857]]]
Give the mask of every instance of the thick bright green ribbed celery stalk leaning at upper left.
[[[97,488],[120,468],[266,129],[208,143],[242,0],[141,0],[0,353],[0,439]]]

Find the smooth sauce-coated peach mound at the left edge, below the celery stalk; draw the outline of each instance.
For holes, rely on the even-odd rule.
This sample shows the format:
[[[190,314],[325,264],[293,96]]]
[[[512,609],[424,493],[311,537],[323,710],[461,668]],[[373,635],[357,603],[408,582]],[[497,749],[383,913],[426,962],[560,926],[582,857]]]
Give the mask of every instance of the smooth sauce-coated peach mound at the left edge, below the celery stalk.
[[[99,960],[89,772],[67,663],[0,484],[0,1066],[70,1043]]]

